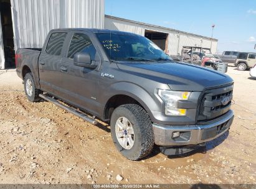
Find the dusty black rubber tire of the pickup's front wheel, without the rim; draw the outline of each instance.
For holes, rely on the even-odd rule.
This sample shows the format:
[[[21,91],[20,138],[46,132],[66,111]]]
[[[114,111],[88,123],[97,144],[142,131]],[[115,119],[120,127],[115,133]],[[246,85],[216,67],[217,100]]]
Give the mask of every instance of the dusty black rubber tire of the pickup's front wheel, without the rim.
[[[131,149],[124,149],[116,137],[116,121],[125,117],[133,125],[134,144]],[[121,105],[113,111],[110,120],[111,136],[116,148],[130,160],[140,160],[151,153],[154,147],[152,122],[146,111],[137,104]]]

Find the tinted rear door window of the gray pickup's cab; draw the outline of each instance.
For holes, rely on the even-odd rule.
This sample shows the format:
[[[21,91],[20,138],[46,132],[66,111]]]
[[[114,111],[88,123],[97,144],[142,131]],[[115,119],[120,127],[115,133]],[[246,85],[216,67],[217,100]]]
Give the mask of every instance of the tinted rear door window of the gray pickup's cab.
[[[53,33],[50,35],[45,51],[50,55],[60,55],[67,33]]]

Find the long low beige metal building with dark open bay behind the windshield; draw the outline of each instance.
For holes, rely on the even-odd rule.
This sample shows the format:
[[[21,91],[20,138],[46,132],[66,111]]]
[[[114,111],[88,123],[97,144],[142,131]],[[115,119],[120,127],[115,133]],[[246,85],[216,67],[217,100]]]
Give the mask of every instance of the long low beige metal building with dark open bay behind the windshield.
[[[152,40],[169,55],[181,54],[183,46],[211,48],[212,53],[217,52],[217,39],[158,25],[145,24],[143,22],[105,15],[105,29],[121,30],[143,35]]]

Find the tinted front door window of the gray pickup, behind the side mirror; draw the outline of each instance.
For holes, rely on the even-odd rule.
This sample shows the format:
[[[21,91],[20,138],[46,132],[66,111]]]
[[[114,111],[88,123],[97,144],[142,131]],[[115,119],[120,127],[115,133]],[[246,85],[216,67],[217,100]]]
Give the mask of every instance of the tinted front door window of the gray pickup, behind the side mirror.
[[[85,34],[73,34],[69,45],[69,52],[67,53],[68,58],[73,58],[75,53],[88,52],[92,58],[95,59],[96,49],[92,44],[90,38]]]

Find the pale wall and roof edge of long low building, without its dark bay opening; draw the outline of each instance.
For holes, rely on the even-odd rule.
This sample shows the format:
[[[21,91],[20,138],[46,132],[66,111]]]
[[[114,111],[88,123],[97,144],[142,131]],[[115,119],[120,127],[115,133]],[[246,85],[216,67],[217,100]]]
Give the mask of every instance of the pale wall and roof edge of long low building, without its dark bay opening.
[[[168,34],[168,53],[177,55],[181,53],[183,46],[211,47],[211,39],[196,34],[158,27],[156,25],[144,24],[136,21],[128,21],[117,17],[105,16],[105,29],[121,30],[138,35],[145,35],[145,30],[153,30]],[[212,40],[212,53],[217,52],[217,40]]]

